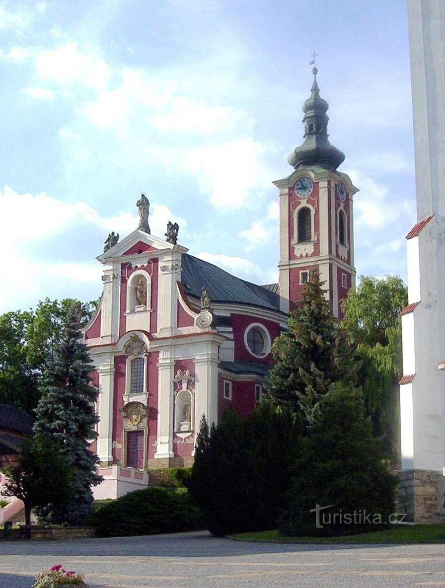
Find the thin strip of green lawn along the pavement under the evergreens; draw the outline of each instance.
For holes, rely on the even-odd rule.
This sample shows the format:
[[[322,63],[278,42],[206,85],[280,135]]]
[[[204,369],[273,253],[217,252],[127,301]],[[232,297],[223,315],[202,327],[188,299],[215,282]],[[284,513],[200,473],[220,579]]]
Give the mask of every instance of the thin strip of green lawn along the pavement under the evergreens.
[[[283,543],[445,543],[445,524],[393,524],[383,531],[341,537],[284,537],[276,530],[239,533],[232,537]]]

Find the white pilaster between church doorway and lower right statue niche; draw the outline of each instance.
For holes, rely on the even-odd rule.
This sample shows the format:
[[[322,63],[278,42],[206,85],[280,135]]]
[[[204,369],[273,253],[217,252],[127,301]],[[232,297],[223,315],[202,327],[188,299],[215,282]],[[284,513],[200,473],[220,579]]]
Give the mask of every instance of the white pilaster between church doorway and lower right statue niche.
[[[158,361],[158,467],[168,467],[173,453],[173,378],[175,361],[170,349],[161,349]]]

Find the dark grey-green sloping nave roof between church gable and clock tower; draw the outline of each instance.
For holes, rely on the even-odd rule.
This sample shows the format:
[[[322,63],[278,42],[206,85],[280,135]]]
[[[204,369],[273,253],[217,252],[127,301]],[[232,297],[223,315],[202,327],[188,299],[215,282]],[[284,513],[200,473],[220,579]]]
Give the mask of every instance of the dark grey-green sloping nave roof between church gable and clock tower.
[[[212,302],[236,303],[258,306],[270,310],[279,310],[280,297],[276,292],[218,268],[192,255],[182,256],[181,282],[188,296],[200,298],[205,288]]]

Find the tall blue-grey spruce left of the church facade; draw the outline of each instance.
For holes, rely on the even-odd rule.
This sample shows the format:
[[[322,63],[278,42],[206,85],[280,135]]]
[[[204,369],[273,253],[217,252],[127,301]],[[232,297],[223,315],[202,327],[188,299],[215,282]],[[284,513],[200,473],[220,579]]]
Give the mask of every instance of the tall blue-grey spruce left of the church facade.
[[[48,505],[38,515],[48,522],[82,524],[92,511],[91,486],[102,478],[96,475],[99,459],[89,449],[97,436],[95,402],[98,389],[91,383],[93,371],[86,346],[79,341],[78,309],[68,310],[63,335],[48,361],[42,397],[36,409],[34,431],[61,446],[61,453],[73,472],[73,499],[64,509]]]

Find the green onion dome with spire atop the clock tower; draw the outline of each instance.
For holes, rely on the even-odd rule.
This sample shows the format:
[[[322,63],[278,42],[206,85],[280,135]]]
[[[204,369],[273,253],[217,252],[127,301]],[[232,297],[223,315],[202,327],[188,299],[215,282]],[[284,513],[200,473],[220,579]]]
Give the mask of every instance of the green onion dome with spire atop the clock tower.
[[[287,158],[289,165],[299,169],[303,165],[319,165],[324,169],[335,171],[344,161],[344,153],[330,144],[327,137],[326,111],[329,104],[320,97],[317,84],[317,68],[313,68],[314,83],[310,89],[310,98],[303,104],[303,124],[305,125],[305,142],[297,147]]]

